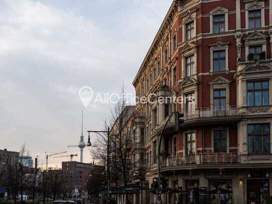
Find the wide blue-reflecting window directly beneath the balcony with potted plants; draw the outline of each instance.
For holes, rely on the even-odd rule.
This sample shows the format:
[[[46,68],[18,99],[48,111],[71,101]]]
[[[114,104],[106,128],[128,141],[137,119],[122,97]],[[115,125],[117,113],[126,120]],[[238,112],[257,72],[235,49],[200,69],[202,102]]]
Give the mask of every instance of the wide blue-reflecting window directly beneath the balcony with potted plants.
[[[247,82],[247,105],[266,106],[269,104],[269,82]]]

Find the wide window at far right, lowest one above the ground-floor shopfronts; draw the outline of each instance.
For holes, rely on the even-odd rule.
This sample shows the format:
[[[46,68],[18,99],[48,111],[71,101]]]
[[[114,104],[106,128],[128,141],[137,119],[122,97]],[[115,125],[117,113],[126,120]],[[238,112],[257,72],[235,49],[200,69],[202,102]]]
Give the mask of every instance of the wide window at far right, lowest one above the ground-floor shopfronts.
[[[270,124],[247,126],[248,153],[270,153]]]

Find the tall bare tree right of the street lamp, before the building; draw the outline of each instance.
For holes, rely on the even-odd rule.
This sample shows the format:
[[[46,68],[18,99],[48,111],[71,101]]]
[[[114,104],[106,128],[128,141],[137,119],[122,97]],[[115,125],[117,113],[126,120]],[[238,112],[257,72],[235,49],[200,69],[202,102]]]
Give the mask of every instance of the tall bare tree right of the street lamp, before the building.
[[[124,96],[122,90],[122,96]],[[135,106],[128,106],[126,98],[120,100],[111,110],[108,121],[110,132],[110,179],[111,187],[127,186],[133,178],[142,172],[142,163],[139,156],[138,140],[135,131]],[[93,154],[100,158],[107,156],[107,137],[98,137],[96,143],[101,144],[93,149]],[[126,203],[128,202],[126,195]]]

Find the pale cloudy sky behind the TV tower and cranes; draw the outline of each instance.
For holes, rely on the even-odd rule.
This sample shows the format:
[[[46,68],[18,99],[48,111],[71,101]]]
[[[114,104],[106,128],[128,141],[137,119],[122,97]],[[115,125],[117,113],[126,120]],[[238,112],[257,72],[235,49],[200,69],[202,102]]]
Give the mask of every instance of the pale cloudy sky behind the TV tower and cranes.
[[[172,0],[0,0],[0,149],[22,144],[39,165],[45,151],[79,154],[87,130],[103,130],[113,104],[94,95],[134,95],[132,81]],[[95,135],[91,135],[94,140]],[[84,149],[84,162],[91,162]],[[61,166],[68,158],[51,158]],[[79,156],[74,160],[80,160]]]

